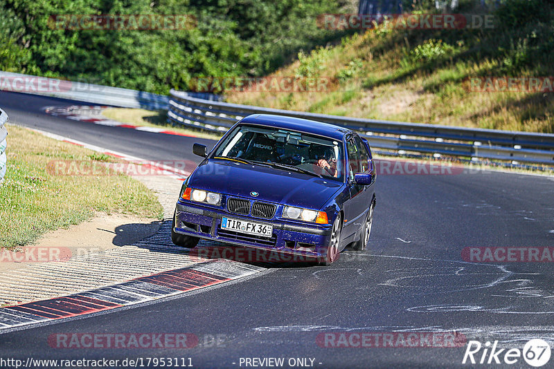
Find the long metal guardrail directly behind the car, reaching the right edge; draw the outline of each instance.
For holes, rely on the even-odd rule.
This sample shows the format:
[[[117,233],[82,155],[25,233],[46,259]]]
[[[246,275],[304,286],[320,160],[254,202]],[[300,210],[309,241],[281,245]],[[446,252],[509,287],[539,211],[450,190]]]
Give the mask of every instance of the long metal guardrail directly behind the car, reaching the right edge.
[[[445,155],[470,160],[506,160],[554,166],[554,134],[494,129],[470,129],[436,124],[370,120],[303,113],[199,99],[191,93],[170,91],[168,121],[212,132],[227,131],[250,114],[277,114],[327,122],[354,129],[373,148],[384,152]]]

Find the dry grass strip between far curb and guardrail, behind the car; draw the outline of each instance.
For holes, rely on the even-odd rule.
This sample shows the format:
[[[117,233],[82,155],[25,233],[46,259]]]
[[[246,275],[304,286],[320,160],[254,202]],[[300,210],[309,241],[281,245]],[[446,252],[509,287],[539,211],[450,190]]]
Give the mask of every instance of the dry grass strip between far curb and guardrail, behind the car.
[[[207,138],[209,140],[219,140],[223,135],[208,133],[199,129],[172,126],[167,122],[166,111],[148,111],[145,109],[133,108],[107,108],[102,111],[102,115],[117,122],[136,124],[139,126],[167,128],[170,131],[184,133],[185,135],[191,135],[197,138]]]

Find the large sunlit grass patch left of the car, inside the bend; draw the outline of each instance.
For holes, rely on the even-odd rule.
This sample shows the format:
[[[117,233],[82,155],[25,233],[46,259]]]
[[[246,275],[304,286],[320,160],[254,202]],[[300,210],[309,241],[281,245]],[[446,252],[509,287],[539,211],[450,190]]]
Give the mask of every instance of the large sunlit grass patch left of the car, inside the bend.
[[[46,231],[92,218],[96,211],[163,217],[156,195],[122,173],[62,176],[51,170],[56,160],[75,160],[86,171],[98,162],[114,162],[110,156],[19,126],[9,125],[8,132],[8,171],[0,186],[0,248],[27,245]]]

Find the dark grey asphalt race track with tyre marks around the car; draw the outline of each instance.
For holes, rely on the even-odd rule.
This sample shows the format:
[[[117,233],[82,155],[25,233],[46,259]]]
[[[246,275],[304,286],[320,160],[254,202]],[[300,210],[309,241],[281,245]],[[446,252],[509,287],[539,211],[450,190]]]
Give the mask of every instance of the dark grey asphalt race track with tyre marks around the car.
[[[75,102],[0,93],[11,123],[147,160],[197,161],[190,153],[193,142],[213,144],[76,122],[41,110],[64,104]],[[318,337],[458,332],[467,340],[499,341],[501,348],[522,349],[529,339],[540,338],[554,349],[554,264],[467,263],[462,257],[465,247],[552,246],[553,178],[467,170],[382,174],[366,252],[346,250],[331,267],[278,266],[179,299],[0,334],[0,353],[24,360],[190,358],[195,368],[253,368],[244,363],[253,357],[285,358],[285,364],[311,358],[314,368],[484,368],[487,364],[462,365],[467,346],[330,348]],[[199,343],[186,349],[64,349],[48,343],[59,333],[170,332],[195,334]],[[475,355],[477,361],[482,353]],[[544,368],[553,363],[554,357]],[[530,366],[519,358],[496,367]]]

